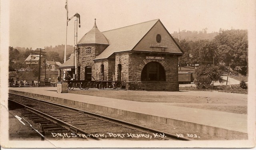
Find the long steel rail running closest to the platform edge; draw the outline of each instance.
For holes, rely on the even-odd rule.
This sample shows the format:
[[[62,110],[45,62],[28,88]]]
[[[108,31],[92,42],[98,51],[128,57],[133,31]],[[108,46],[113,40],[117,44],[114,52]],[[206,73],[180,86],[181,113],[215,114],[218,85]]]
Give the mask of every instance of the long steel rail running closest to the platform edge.
[[[123,120],[118,120],[118,119],[110,118],[110,117],[107,117],[107,116],[102,116],[100,114],[90,113],[88,111],[82,111],[80,109],[75,109],[75,108],[68,107],[68,106],[65,106],[65,105],[60,105],[60,104],[44,101],[44,100],[41,100],[41,99],[35,99],[35,98],[32,98],[32,97],[26,97],[26,96],[14,94],[14,93],[9,93],[9,94],[24,97],[24,98],[27,98],[27,99],[33,99],[33,100],[36,100],[36,101],[41,101],[43,103],[49,103],[49,104],[52,104],[52,105],[56,105],[58,107],[64,107],[66,109],[71,109],[73,111],[78,111],[79,113],[82,113],[82,114],[89,114],[89,115],[96,116],[96,117],[99,117],[99,118],[104,118],[106,120],[111,120],[112,122],[115,122],[115,123],[119,123],[119,124],[122,124],[122,125],[124,124],[124,125],[128,126],[129,128],[131,128],[131,127],[138,128],[140,130],[143,130],[143,132],[147,131],[147,132],[155,132],[155,133],[164,133],[164,135],[166,135],[166,137],[168,137],[168,138],[172,138],[172,139],[176,139],[176,140],[185,140],[185,141],[191,140],[191,139],[186,138],[186,137],[177,137],[175,134],[162,132],[160,130],[156,130],[156,129],[153,129],[153,128],[147,128],[145,126],[140,126],[138,124],[133,124],[133,123],[126,122],[126,121],[123,121]]]

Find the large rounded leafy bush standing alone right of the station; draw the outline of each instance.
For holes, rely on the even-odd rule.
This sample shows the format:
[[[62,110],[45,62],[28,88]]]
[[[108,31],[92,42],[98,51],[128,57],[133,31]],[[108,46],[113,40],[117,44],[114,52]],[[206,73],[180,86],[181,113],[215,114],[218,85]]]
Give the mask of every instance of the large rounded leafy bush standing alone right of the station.
[[[210,89],[217,81],[223,83],[223,71],[216,66],[202,65],[195,70],[195,75],[194,83],[198,89]]]

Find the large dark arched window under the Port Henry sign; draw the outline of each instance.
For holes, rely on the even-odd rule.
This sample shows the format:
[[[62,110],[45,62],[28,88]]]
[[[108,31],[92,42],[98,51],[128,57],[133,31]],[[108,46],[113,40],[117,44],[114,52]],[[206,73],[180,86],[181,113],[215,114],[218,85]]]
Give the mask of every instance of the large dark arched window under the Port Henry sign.
[[[164,67],[156,61],[147,63],[142,69],[141,81],[166,81]]]

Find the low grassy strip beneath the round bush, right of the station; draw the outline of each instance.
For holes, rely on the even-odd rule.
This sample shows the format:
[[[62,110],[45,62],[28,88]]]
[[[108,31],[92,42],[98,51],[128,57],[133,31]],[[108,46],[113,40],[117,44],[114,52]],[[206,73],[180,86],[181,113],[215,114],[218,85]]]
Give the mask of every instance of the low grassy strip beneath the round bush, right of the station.
[[[242,89],[240,85],[214,85],[213,89],[197,89],[196,87],[180,87],[180,90],[185,91],[218,91],[218,92],[225,92],[225,93],[241,93],[241,94],[248,94],[247,89]]]

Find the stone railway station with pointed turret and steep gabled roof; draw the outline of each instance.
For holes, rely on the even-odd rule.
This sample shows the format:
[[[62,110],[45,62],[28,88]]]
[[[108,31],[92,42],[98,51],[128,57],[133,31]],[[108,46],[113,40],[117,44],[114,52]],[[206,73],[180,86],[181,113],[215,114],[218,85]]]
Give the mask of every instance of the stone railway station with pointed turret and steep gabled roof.
[[[159,19],[105,32],[95,20],[77,47],[78,80],[123,81],[130,90],[179,89],[178,57],[184,52]],[[74,71],[70,62],[60,68]]]

